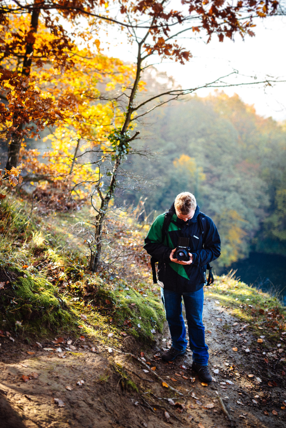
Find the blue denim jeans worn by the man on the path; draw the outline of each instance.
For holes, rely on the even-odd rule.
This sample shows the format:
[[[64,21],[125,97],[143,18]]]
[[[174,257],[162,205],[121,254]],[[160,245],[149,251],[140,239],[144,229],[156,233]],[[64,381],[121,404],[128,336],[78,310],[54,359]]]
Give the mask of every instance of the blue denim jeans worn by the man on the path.
[[[188,343],[182,315],[182,296],[186,310],[190,348],[193,351],[193,362],[201,366],[207,366],[208,345],[205,343],[205,327],[202,323],[203,288],[193,293],[183,294],[161,288],[161,297],[171,333],[172,347],[178,351],[184,351]]]

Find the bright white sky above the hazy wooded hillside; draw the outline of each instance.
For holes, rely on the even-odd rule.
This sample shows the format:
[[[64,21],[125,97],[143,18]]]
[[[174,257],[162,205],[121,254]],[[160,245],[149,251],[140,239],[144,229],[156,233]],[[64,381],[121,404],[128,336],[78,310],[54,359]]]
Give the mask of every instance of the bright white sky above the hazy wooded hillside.
[[[193,58],[186,65],[151,57],[152,63],[160,71],[173,76],[183,89],[203,86],[216,78],[229,74],[233,69],[246,77],[232,78],[232,83],[250,82],[251,76],[257,81],[267,78],[286,80],[286,17],[276,16],[257,19],[254,28],[255,37],[246,36],[245,41],[235,36],[235,42],[229,39],[218,42],[215,36],[207,45],[200,39],[182,39]],[[105,38],[103,38],[105,39]],[[118,41],[120,40],[120,43]],[[109,45],[101,45],[104,52],[116,56],[123,61],[135,61],[136,45],[127,45],[123,33],[108,30]],[[118,43],[117,45],[116,42]],[[107,50],[108,49],[108,50]],[[286,82],[264,85],[237,86],[223,89],[228,95],[236,92],[247,104],[254,104],[256,112],[261,116],[272,116],[275,120],[286,120]],[[211,89],[199,89],[199,96],[206,96]]]

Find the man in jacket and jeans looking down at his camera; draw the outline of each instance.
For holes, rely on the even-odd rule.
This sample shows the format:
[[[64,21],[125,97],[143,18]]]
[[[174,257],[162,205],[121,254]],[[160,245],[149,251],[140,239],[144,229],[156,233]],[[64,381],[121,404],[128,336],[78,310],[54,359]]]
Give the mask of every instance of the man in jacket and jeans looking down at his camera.
[[[186,327],[182,315],[182,296],[186,310],[190,348],[193,351],[192,370],[200,380],[211,383],[208,371],[208,346],[202,323],[203,286],[207,283],[207,264],[220,256],[220,236],[210,217],[200,213],[192,193],[178,194],[169,210],[171,221],[163,239],[165,214],[156,218],[145,238],[144,248],[158,260],[158,279],[165,306],[172,347],[162,355],[172,361],[186,352]],[[189,238],[188,260],[175,258],[178,238]]]

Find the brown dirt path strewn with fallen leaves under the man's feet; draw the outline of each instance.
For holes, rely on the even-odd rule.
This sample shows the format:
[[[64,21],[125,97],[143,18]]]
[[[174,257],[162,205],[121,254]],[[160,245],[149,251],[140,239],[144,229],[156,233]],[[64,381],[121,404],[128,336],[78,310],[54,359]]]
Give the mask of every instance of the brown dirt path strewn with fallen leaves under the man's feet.
[[[167,330],[157,347],[135,350],[134,340],[127,338],[121,352],[67,338],[27,345],[4,334],[0,426],[285,427],[285,339],[276,348],[257,343],[249,326],[210,298],[204,319],[214,377],[210,386],[191,372],[190,352],[173,363],[158,358],[169,341]]]

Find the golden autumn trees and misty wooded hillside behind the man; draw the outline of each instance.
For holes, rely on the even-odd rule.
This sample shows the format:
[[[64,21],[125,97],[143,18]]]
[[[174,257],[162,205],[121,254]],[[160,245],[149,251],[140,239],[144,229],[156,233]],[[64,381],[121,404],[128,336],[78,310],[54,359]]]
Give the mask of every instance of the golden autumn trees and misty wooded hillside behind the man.
[[[139,15],[143,3],[135,11]],[[154,4],[148,4],[152,13]],[[108,13],[112,4],[96,6]],[[275,6],[271,2],[272,11]],[[112,200],[113,207],[141,207],[138,220],[145,222],[166,211],[177,193],[192,190],[220,231],[218,266],[230,266],[250,250],[285,256],[286,124],[258,116],[238,95],[186,95],[195,88],[183,91],[142,62],[139,78],[138,63],[136,68],[102,53],[97,36],[103,15],[95,19],[90,14],[88,31],[81,31],[81,10],[63,5],[52,15],[49,7],[48,2],[40,7],[35,2],[30,9],[11,6],[3,18],[1,168],[6,165],[10,175],[1,177],[16,184],[21,171],[33,196],[54,209],[79,208],[91,199],[98,215],[105,216]],[[208,6],[207,15],[220,16],[216,7]],[[271,13],[267,8],[259,3],[257,15]],[[181,19],[178,12],[168,18],[160,13],[165,23],[170,17]],[[209,38],[214,32],[222,42],[235,32],[252,35],[253,25],[250,18],[245,28],[202,27]],[[192,28],[199,34],[200,27]],[[144,45],[147,54],[186,62],[190,52],[175,42],[168,45],[156,31],[153,45]],[[87,241],[93,259],[94,248],[99,259],[100,234],[101,228]]]

